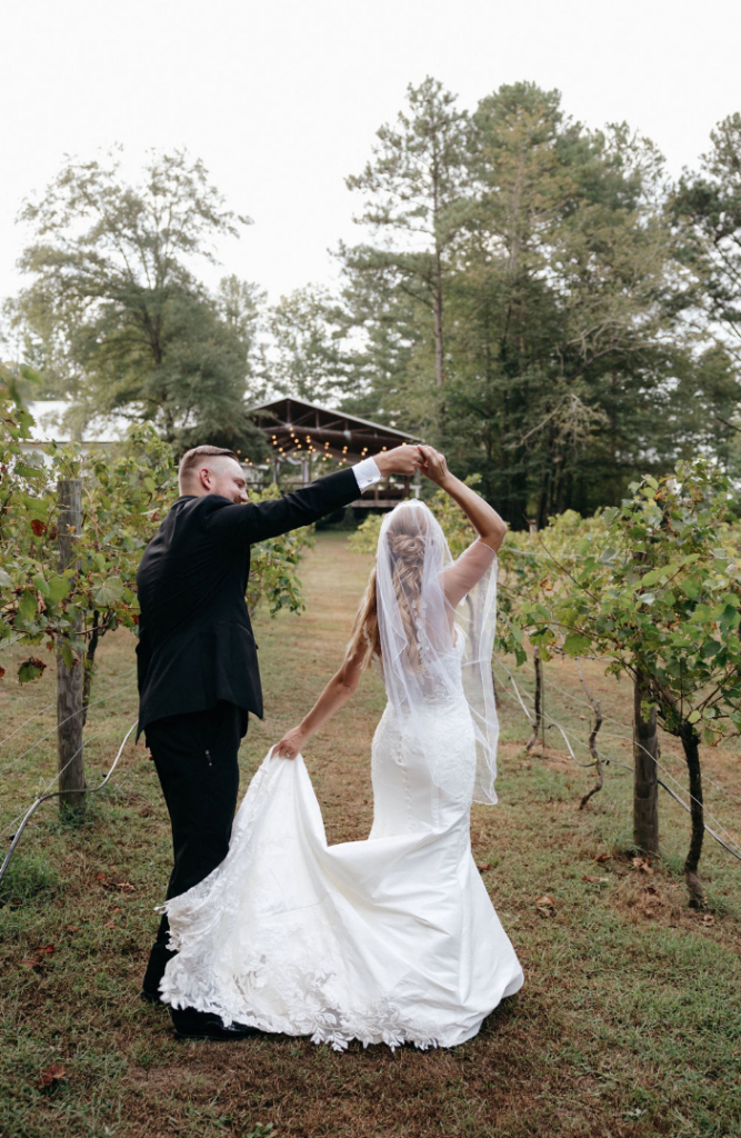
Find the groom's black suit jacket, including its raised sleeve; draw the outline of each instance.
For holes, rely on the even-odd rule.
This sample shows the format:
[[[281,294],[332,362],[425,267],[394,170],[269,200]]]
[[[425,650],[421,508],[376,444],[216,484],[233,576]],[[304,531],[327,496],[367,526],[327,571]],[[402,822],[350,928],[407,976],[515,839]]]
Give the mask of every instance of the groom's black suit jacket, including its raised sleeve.
[[[139,728],[206,711],[219,700],[262,718],[263,695],[245,592],[249,546],[359,496],[352,468],[274,502],[237,505],[217,494],[179,497],[145,550],[137,587]]]

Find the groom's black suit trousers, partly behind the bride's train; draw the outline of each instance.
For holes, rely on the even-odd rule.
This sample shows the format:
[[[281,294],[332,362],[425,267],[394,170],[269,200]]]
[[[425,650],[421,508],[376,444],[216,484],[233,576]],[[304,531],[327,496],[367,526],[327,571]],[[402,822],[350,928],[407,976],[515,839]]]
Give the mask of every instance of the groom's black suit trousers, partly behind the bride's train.
[[[239,790],[238,753],[244,712],[220,701],[208,711],[167,716],[147,727],[172,825],[174,864],[166,897],[178,897],[227,857]],[[149,957],[145,988],[156,991],[167,960],[168,924],[163,916]]]

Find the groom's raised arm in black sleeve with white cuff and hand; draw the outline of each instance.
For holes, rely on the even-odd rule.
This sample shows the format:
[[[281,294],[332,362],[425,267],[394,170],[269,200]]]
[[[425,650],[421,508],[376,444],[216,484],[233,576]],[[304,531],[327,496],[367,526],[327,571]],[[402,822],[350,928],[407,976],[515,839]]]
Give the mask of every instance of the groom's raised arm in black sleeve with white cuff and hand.
[[[412,475],[422,457],[414,446],[398,446],[354,467],[318,478],[310,486],[270,502],[224,505],[214,510],[208,528],[214,537],[247,545],[278,537],[299,526],[308,526],[344,505],[349,505],[368,486],[388,473]]]

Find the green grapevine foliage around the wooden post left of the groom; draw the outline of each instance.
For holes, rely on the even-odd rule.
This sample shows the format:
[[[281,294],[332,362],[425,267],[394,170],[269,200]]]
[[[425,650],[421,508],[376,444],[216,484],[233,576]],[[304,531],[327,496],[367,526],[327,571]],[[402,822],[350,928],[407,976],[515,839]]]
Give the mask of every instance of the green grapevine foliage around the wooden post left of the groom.
[[[137,568],[174,486],[172,451],[151,426],[142,424],[132,428],[113,462],[55,444],[27,455],[32,426],[26,411],[2,406],[0,641],[20,638],[49,649],[60,644],[67,666],[83,661],[89,694],[100,637],[120,625],[137,625]],[[81,476],[83,519],[74,538],[75,564],[60,571],[56,484]],[[33,679],[44,667],[25,661],[18,678]]]

